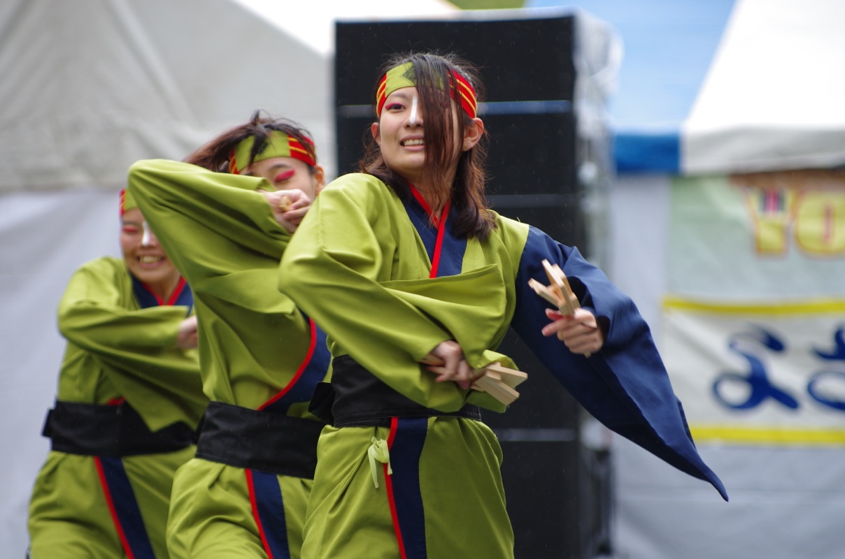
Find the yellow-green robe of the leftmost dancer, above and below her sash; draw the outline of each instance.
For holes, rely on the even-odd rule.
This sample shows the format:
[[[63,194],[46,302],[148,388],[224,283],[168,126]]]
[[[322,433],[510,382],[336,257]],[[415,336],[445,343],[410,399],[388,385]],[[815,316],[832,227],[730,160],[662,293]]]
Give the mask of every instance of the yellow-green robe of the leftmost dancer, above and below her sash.
[[[68,340],[57,400],[108,406],[125,401],[150,431],[185,424],[194,429],[207,399],[196,350],[179,350],[177,332],[190,307],[142,308],[134,279],[119,258],[85,263],[70,279],[58,310]],[[187,289],[187,288],[186,288]],[[186,427],[186,428],[188,428]],[[155,557],[167,557],[165,526],[172,477],[194,447],[114,459],[125,471],[143,525],[112,518],[126,495],[106,495],[104,462],[93,455],[51,451],[30,502],[33,559],[121,557],[133,531],[144,533]],[[107,459],[103,459],[107,460]],[[112,502],[109,502],[112,499]]]

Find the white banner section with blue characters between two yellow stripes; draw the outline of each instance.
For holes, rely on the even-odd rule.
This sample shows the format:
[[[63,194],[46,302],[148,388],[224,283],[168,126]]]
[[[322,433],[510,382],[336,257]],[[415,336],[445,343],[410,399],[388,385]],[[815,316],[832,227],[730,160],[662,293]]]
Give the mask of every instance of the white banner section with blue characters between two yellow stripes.
[[[696,441],[845,444],[845,301],[665,301],[663,357]]]

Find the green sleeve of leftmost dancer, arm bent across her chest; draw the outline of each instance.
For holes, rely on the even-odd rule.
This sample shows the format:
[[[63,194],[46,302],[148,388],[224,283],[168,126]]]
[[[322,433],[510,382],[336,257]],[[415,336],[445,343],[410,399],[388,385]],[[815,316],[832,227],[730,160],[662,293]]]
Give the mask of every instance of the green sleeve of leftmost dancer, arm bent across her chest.
[[[101,258],[86,264],[68,284],[59,304],[58,325],[82,352],[79,357],[90,355],[90,360],[76,359],[63,366],[59,398],[69,395],[74,401],[104,404],[96,393],[79,393],[80,387],[95,385],[93,378],[83,377],[102,374],[150,429],[176,421],[195,426],[207,399],[196,350],[176,346],[179,325],[187,314],[186,307],[139,309],[122,260]]]

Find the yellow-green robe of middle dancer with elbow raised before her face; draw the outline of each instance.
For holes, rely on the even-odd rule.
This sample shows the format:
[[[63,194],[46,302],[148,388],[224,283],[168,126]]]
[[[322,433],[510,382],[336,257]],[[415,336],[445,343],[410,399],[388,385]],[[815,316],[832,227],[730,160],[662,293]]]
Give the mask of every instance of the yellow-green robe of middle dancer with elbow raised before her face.
[[[313,383],[328,374],[328,350],[324,342],[313,345],[312,321],[276,288],[291,234],[256,192],[272,190],[270,183],[177,161],[144,160],[130,169],[128,185],[194,290],[199,360],[212,402],[259,410],[285,393],[290,401],[282,413],[317,426],[308,401]],[[309,351],[324,354],[326,366],[297,377]],[[257,477],[248,480],[248,475],[260,472],[199,457],[180,469],[168,528],[173,557],[260,557],[274,545],[284,548],[275,556],[299,557],[312,481],[275,475],[272,491],[262,494]],[[251,500],[260,502],[269,492],[284,508],[279,522],[254,513]]]

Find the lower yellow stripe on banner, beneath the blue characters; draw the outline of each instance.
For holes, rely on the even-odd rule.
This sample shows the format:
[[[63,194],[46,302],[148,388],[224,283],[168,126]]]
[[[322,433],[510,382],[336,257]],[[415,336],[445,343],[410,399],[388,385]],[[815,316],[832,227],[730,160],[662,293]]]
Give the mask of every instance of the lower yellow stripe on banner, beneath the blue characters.
[[[690,425],[695,442],[725,442],[782,446],[845,445],[845,429],[784,429],[783,427],[738,427]]]

